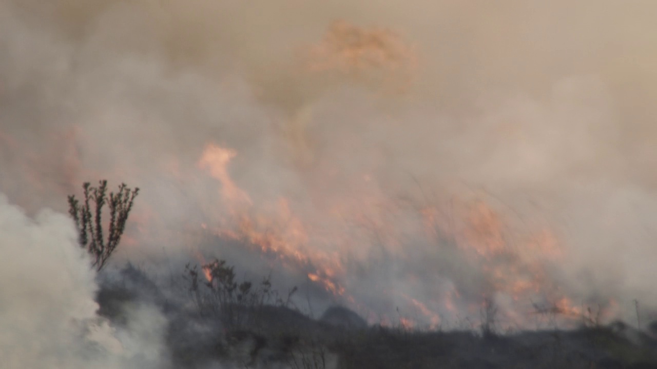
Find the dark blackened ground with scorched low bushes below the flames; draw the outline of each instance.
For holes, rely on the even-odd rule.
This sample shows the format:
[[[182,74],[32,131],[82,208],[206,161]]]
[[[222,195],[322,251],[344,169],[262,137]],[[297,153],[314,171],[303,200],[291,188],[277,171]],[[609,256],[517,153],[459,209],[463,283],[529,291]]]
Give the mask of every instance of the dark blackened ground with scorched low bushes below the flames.
[[[339,306],[315,320],[290,293],[275,292],[270,278],[238,280],[221,260],[188,265],[183,276],[186,287],[171,292],[127,265],[118,278],[101,280],[98,295],[113,324],[122,322],[122,305],[160,307],[174,368],[657,368],[656,324],[645,331],[614,322],[499,334],[488,304],[481,330],[420,332],[363,325]]]

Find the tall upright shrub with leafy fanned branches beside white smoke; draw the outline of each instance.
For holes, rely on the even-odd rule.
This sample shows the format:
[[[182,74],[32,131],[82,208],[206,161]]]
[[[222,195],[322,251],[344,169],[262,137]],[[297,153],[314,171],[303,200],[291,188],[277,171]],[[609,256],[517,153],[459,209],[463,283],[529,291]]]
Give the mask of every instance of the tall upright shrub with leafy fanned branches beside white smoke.
[[[100,271],[116,250],[125,230],[125,222],[132,209],[133,201],[139,193],[139,188],[131,190],[125,183],[119,186],[118,192],[110,192],[107,198],[107,181],[99,181],[99,186],[90,183],[82,185],[84,202],[79,204],[75,195],[68,196],[68,213],[76,223],[79,232],[79,243],[94,257],[93,267]],[[109,200],[109,201],[108,201]],[[93,203],[93,208],[91,206]],[[110,221],[107,240],[102,234],[102,207],[107,204],[110,209]]]

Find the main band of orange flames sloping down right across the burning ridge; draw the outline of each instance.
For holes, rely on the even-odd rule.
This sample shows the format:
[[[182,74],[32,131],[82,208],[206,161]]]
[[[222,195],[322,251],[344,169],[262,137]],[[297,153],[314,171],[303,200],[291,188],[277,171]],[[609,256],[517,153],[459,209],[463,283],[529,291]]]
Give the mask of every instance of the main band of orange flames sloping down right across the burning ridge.
[[[271,253],[288,268],[311,267],[306,272],[310,282],[322,286],[366,316],[373,316],[377,311],[382,315],[376,305],[359,298],[363,292],[359,290],[360,281],[353,280],[357,277],[352,269],[363,263],[376,263],[370,255],[377,247],[384,247],[394,258],[392,260],[403,263],[413,244],[405,244],[409,234],[414,237],[423,234],[424,237],[415,242],[435,245],[431,252],[436,257],[453,258],[452,263],[469,269],[463,272],[452,267],[450,270],[450,261],[443,260],[447,263],[444,270],[436,265],[436,270],[425,273],[424,278],[436,278],[434,282],[423,280],[414,271],[405,271],[398,275],[406,281],[405,288],[395,288],[394,280],[390,286],[373,283],[371,288],[385,289],[388,301],[403,311],[398,322],[405,328],[425,325],[436,328],[445,319],[458,320],[464,312],[477,315],[484,299],[503,305],[501,315],[503,320],[511,320],[509,325],[524,324],[532,311],[523,312],[522,309],[532,306],[534,301],[552,303],[553,313],[568,321],[575,321],[584,313],[572,306],[547,271],[547,267],[560,261],[564,251],[555,235],[546,228],[518,239],[514,230],[509,229],[509,222],[483,200],[462,202],[459,209],[452,211],[452,217],[458,219],[451,221],[443,219],[444,213],[438,206],[420,207],[415,210],[415,220],[409,221],[410,208],[390,202],[374,186],[375,181],[367,177],[367,181],[354,182],[357,185],[351,189],[357,191],[356,195],[342,201],[332,199],[334,201],[328,206],[332,211],[322,207],[316,209],[336,217],[351,214],[351,227],[343,228],[349,233],[341,234],[335,232],[337,228],[321,227],[321,222],[331,223],[336,217],[309,215],[307,210],[304,216],[299,216],[298,211],[304,211],[303,206],[286,198],[254,203],[229,174],[231,160],[236,156],[233,150],[210,144],[200,158],[199,166],[219,185],[221,204],[217,204],[217,208],[225,208],[229,215],[223,219],[217,217],[219,221],[206,228],[222,238],[239,240],[263,253]],[[359,200],[353,200],[355,198]],[[406,219],[399,221],[401,217]],[[348,265],[344,260],[349,261]],[[377,272],[371,271],[373,275]],[[464,278],[475,278],[472,282],[480,292],[473,295],[473,286],[468,285],[472,282]],[[428,283],[436,286],[428,288]],[[468,293],[464,295],[463,291]],[[509,297],[508,303],[506,297]]]

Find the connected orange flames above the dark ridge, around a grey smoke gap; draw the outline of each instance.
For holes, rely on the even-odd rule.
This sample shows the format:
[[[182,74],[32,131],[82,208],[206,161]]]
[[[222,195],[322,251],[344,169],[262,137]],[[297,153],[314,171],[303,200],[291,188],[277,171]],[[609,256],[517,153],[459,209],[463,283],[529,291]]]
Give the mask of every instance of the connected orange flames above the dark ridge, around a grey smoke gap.
[[[445,239],[455,242],[457,248],[451,252],[457,252],[455,255],[461,255],[459,257],[476,268],[473,271],[480,274],[482,282],[492,289],[487,294],[502,293],[514,303],[531,301],[540,295],[556,296],[553,299],[556,301],[555,312],[560,315],[586,313],[574,307],[551,282],[546,270],[547,263],[558,262],[563,257],[563,251],[555,235],[545,228],[525,238],[513,236],[514,230],[508,227],[509,221],[484,201],[464,203],[459,211],[453,211],[450,215],[452,219],[447,219],[437,206],[420,207],[417,211],[417,227],[412,224],[413,220],[401,223],[399,219],[409,218],[409,209],[386,203],[386,195],[376,190],[376,181],[367,175],[365,181],[363,177],[354,181],[357,183],[354,188],[363,191],[357,200],[330,198],[330,204],[323,208],[328,214],[351,215],[350,221],[358,225],[354,229],[360,231],[354,232],[351,229],[351,234],[342,234],[336,232],[339,228],[328,225],[316,227],[311,223],[311,218],[298,215],[299,209],[292,207],[286,198],[255,204],[229,173],[229,166],[235,156],[237,152],[234,150],[210,144],[198,162],[199,167],[207,170],[221,186],[219,194],[222,203],[217,206],[225,207],[225,213],[229,215],[227,219],[217,218],[214,225],[204,223],[203,228],[221,237],[240,240],[264,253],[276,255],[284,265],[311,268],[305,272],[311,282],[323,286],[335,296],[344,297],[362,311],[368,311],[367,305],[363,306],[351,295],[348,284],[339,282],[348,281],[350,273],[340,262],[342,255],[358,251],[360,245],[378,243],[396,252],[392,255],[403,258],[405,234],[422,234],[424,229],[427,239],[439,245]],[[316,205],[325,203],[320,201]],[[460,223],[457,222],[459,219]],[[322,229],[328,231],[323,232]],[[367,257],[367,250],[363,249],[363,257]],[[421,279],[413,275],[406,278],[413,284],[422,283]],[[455,279],[458,276],[450,278],[459,284],[459,280]],[[405,309],[414,309],[435,328],[442,322],[442,314],[453,317],[458,316],[463,309],[473,314],[480,310],[482,302],[472,301],[472,295],[467,300],[466,296],[459,293],[459,289],[451,286],[446,292],[434,296],[406,295],[403,290],[389,292],[392,293],[391,298],[406,301]],[[522,319],[517,311],[506,313],[507,318]],[[417,322],[401,316],[399,323],[406,328],[417,326]]]

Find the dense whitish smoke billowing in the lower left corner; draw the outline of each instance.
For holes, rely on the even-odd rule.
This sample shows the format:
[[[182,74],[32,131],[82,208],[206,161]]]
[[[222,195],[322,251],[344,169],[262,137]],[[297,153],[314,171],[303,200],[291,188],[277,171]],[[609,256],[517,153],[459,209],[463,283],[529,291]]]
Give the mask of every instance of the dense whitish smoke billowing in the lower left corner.
[[[27,217],[0,194],[0,354],[5,368],[164,368],[165,320],[134,307],[124,328],[96,315],[95,272],[66,215]]]

